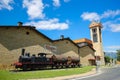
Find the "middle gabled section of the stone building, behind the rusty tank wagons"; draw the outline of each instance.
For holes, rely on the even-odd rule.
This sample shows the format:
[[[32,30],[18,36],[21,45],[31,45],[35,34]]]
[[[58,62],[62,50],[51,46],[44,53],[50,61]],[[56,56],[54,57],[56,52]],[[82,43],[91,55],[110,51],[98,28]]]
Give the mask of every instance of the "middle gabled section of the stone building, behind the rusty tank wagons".
[[[54,45],[57,47],[57,53],[62,56],[79,57],[79,46],[75,44],[70,38],[64,38],[54,40]]]

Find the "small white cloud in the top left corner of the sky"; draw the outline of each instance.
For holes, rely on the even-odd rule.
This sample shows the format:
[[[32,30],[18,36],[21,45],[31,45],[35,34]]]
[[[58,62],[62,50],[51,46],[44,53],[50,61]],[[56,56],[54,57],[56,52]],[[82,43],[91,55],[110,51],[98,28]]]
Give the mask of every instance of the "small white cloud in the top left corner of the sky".
[[[1,9],[12,10],[13,7],[10,4],[13,4],[13,3],[14,3],[13,0],[0,0],[0,10]]]

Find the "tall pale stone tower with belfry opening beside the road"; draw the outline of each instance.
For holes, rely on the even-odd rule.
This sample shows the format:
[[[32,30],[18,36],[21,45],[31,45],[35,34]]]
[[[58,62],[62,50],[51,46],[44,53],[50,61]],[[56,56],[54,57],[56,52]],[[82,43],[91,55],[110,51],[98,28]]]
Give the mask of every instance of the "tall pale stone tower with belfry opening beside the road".
[[[93,21],[90,26],[91,40],[93,48],[96,50],[95,56],[97,60],[100,60],[101,65],[104,65],[104,52],[102,47],[102,24],[100,22]]]

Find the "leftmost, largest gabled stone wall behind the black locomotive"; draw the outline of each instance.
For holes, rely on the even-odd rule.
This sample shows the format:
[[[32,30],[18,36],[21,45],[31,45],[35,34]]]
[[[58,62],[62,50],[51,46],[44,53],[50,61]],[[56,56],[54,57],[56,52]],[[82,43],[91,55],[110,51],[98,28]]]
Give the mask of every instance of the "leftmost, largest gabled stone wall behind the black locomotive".
[[[18,60],[22,48],[31,54],[51,53],[44,48],[51,41],[31,27],[0,27],[0,64]]]

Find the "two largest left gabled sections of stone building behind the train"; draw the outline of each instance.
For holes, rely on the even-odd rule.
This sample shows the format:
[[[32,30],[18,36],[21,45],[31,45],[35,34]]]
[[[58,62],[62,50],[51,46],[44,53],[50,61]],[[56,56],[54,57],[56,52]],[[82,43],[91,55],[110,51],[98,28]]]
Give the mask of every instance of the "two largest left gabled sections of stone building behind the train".
[[[18,60],[21,50],[26,53],[62,54],[79,56],[78,46],[69,38],[51,40],[33,26],[0,26],[0,64],[12,64]]]

